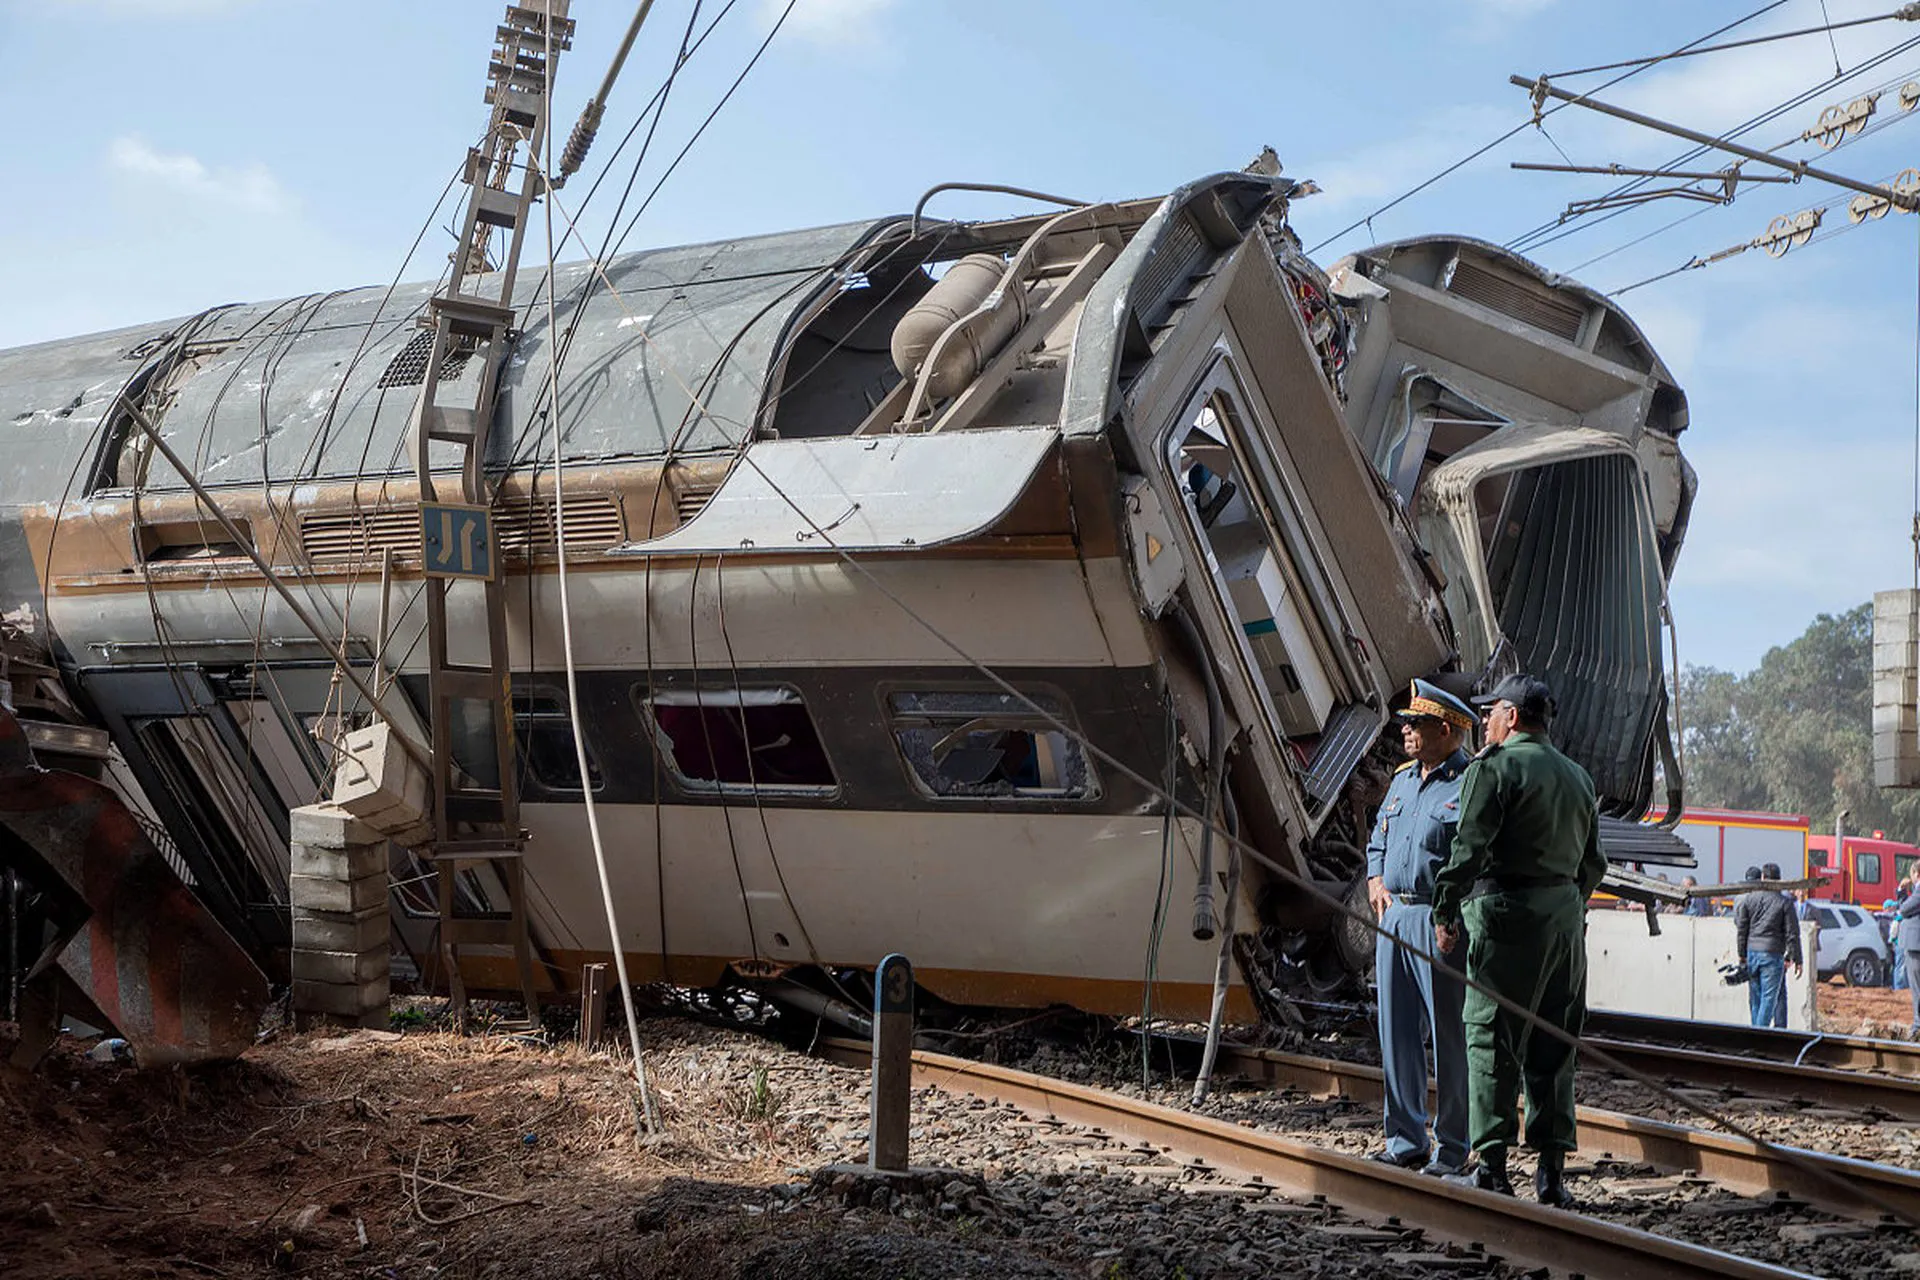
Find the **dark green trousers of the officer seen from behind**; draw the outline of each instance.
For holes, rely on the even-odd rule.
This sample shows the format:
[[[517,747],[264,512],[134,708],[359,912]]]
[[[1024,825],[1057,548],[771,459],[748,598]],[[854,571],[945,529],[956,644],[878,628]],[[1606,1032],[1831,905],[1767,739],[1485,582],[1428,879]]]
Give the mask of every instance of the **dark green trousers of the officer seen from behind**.
[[[1586,1021],[1586,919],[1580,890],[1544,885],[1471,898],[1467,977],[1578,1036]],[[1467,1128],[1475,1151],[1515,1140],[1513,1103],[1526,1088],[1526,1146],[1574,1150],[1571,1044],[1467,988]]]

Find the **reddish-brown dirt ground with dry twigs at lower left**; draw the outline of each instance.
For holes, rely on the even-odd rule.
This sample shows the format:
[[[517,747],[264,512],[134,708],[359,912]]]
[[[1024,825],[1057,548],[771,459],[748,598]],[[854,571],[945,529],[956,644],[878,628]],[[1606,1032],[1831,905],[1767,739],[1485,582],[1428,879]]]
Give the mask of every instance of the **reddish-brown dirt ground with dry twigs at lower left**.
[[[641,1140],[622,1063],[578,1048],[282,1034],[142,1073],[63,1042],[0,1077],[0,1276],[1083,1274],[979,1222],[797,1196],[820,1161],[793,1057],[674,1019],[643,1034],[664,1138]],[[845,1075],[826,1094],[864,1107]]]

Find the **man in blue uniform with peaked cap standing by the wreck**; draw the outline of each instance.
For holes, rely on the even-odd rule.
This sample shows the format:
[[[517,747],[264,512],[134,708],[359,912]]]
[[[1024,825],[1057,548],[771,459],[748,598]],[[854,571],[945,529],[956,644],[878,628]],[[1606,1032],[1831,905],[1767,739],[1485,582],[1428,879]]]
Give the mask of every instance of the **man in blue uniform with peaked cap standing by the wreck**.
[[[1380,818],[1367,842],[1367,900],[1384,935],[1373,942],[1373,981],[1380,1007],[1380,1063],[1386,1069],[1386,1150],[1373,1159],[1459,1173],[1467,1165],[1467,1038],[1461,1007],[1467,988],[1457,975],[1465,952],[1455,944],[1442,960],[1453,969],[1394,946],[1402,938],[1434,950],[1434,871],[1453,846],[1459,821],[1459,777],[1467,770],[1465,743],[1473,710],[1425,679],[1413,681],[1413,700],[1400,712],[1400,743],[1413,756],[1394,773]],[[1436,1144],[1427,1144],[1427,1046],[1432,1034]]]

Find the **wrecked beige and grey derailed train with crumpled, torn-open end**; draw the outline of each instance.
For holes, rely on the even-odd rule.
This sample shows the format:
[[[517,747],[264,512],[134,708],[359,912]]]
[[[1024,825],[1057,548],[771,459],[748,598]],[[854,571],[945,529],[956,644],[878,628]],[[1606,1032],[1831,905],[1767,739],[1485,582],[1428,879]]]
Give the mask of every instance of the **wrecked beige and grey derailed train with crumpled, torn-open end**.
[[[1185,1017],[1223,944],[1242,1015],[1365,963],[1298,885],[1354,894],[1411,676],[1546,674],[1609,816],[1645,810],[1692,497],[1680,391],[1619,309],[1490,246],[1386,246],[1329,278],[1290,194],[1221,175],[634,253],[605,280],[561,267],[559,334],[522,273],[492,478],[545,990],[612,946],[586,789],[637,979],[899,950],[954,1002],[1127,1013],[1150,981]],[[75,718],[111,733],[123,789],[269,975],[288,810],[365,716],[332,658],[426,704],[409,415],[430,292],[0,353],[17,643],[58,656]],[[484,629],[478,599],[449,606],[455,635]],[[482,785],[488,725],[453,725]],[[444,981],[434,873],[405,850],[392,871],[396,946]],[[459,894],[503,904],[484,871]],[[515,986],[505,954],[459,963]]]

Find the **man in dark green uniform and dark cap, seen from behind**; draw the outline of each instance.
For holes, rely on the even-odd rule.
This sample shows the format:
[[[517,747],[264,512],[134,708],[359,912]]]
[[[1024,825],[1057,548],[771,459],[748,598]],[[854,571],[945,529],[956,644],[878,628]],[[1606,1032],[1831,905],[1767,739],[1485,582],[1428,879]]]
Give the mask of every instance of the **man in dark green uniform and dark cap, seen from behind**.
[[[1553,695],[1509,676],[1486,706],[1486,750],[1459,787],[1453,856],[1434,877],[1434,935],[1467,933],[1467,977],[1578,1036],[1586,1019],[1586,900],[1607,871],[1594,779],[1548,741]],[[1563,1182],[1574,1148],[1571,1044],[1492,998],[1467,990],[1469,1130],[1480,1161],[1463,1182],[1511,1196],[1513,1103],[1526,1086],[1526,1146],[1540,1153],[1534,1192],[1572,1203]]]

